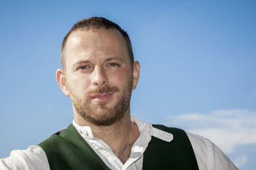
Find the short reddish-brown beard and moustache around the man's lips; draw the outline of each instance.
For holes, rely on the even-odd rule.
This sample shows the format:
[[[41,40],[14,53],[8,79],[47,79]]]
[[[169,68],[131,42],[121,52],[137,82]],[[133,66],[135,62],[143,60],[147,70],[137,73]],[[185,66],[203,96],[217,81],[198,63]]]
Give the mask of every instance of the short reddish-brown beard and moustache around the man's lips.
[[[132,82],[133,78],[127,82],[122,92],[120,92],[118,87],[108,87],[104,85],[86,92],[82,99],[70,92],[70,99],[76,112],[87,122],[94,125],[112,125],[124,117],[125,112],[130,106]],[[119,92],[120,94],[117,95],[117,102],[112,108],[106,107],[108,102],[98,103],[94,107],[90,106],[90,97],[97,94],[112,94],[114,92]]]

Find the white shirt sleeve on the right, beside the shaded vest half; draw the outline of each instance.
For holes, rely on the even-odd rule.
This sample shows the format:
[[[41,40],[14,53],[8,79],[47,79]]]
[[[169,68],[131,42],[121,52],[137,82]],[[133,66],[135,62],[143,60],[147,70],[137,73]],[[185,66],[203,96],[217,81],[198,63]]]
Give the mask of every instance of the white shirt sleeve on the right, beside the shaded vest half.
[[[237,167],[228,159],[218,146],[208,139],[191,132],[186,132],[195,152],[199,169],[236,170]]]

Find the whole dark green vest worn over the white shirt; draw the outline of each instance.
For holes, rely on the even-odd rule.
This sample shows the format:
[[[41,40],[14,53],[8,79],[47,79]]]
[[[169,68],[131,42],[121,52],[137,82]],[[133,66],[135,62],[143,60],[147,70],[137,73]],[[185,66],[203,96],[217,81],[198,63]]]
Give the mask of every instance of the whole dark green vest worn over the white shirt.
[[[143,153],[143,169],[198,169],[186,132],[163,125],[153,127],[172,133],[173,140],[166,142],[152,136]],[[74,125],[52,134],[39,146],[46,153],[51,169],[109,169]]]

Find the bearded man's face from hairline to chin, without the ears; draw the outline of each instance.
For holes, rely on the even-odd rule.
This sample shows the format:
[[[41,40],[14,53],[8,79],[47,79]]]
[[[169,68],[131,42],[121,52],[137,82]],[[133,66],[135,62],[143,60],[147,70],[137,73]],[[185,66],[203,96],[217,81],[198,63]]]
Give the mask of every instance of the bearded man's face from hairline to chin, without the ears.
[[[120,32],[72,32],[65,57],[67,89],[75,113],[95,125],[111,125],[124,117],[135,87],[129,53]]]

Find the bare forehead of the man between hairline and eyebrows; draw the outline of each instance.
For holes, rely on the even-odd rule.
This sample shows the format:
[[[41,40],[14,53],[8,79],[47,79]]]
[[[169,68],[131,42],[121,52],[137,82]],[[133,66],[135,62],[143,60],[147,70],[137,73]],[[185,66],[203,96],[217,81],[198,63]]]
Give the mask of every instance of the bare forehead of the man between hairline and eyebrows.
[[[66,62],[68,60],[70,62],[70,59],[72,60],[77,55],[86,53],[127,55],[129,59],[126,41],[122,34],[115,29],[90,29],[72,32],[65,47]]]

